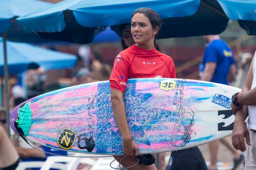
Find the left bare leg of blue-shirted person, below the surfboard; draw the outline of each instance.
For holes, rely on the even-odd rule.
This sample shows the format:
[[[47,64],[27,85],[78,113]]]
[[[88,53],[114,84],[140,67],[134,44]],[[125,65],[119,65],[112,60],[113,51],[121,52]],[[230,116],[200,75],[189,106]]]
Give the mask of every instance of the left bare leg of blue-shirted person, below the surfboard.
[[[216,140],[214,142],[210,142],[208,144],[209,146],[209,151],[210,151],[210,166],[209,166],[209,170],[216,170],[217,166],[217,153],[218,153],[218,149],[219,149],[219,140]]]

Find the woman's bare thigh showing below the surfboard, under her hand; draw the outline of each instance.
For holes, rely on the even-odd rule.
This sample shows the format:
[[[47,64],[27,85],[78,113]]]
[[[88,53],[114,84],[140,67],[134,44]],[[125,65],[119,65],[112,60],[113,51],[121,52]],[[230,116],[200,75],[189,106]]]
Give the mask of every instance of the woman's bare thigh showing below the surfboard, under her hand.
[[[133,166],[135,164],[137,164],[137,161],[130,161],[128,159],[121,159],[122,156],[114,156],[115,159],[117,159],[117,161],[120,163],[121,161],[121,165],[124,166],[125,168]],[[133,166],[131,168],[127,168],[127,170],[157,170],[156,166],[154,164],[150,165],[150,166],[145,166],[143,164],[137,164],[136,166]]]

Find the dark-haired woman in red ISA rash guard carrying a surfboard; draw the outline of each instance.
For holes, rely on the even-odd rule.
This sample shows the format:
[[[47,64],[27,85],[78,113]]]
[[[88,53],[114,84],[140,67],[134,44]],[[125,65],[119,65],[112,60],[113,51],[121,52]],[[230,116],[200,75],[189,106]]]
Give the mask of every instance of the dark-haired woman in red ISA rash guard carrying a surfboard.
[[[131,34],[135,45],[121,51],[117,55],[110,78],[111,102],[113,113],[123,138],[123,155],[121,164],[129,167],[137,163],[135,156],[139,150],[132,140],[126,119],[124,91],[128,78],[176,78],[174,62],[168,55],[154,48],[154,41],[159,33],[162,22],[156,11],[150,8],[138,8],[132,13]],[[120,159],[117,159],[120,161]],[[155,170],[151,166],[136,165],[130,170],[143,168]]]

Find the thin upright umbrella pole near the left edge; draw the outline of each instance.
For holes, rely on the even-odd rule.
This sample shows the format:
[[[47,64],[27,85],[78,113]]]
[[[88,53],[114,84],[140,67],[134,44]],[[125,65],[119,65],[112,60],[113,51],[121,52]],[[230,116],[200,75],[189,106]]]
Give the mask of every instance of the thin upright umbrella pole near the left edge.
[[[7,66],[7,47],[6,47],[6,33],[3,33],[3,48],[4,48],[4,90],[6,100],[6,123],[7,123],[7,134],[10,138],[10,111],[9,111],[9,90],[8,90],[8,66]]]

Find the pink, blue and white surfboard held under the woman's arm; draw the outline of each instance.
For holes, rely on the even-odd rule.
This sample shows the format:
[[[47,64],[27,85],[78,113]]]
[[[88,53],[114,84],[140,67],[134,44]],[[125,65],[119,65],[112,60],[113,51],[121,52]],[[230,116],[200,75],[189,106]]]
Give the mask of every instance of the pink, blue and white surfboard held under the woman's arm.
[[[120,82],[122,83],[122,82]],[[232,134],[231,97],[241,89],[189,79],[128,79],[127,121],[141,154],[176,151]],[[11,128],[55,149],[121,155],[109,81],[67,87],[17,106]]]

